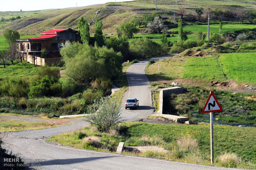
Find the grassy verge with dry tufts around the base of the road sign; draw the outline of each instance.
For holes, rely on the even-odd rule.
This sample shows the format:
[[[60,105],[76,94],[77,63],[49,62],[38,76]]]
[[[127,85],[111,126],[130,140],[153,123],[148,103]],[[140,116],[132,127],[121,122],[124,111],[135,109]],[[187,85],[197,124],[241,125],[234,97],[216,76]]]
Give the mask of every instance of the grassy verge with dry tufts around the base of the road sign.
[[[234,153],[242,160],[241,163],[236,165],[236,168],[256,168],[255,127],[234,127],[214,124],[213,130],[214,156],[216,158],[225,152]],[[53,136],[50,138],[50,141],[83,149],[108,152],[115,152],[119,142],[124,142],[125,146],[154,145],[163,147],[169,153],[147,151],[137,153],[137,155],[211,165],[209,133],[210,124],[163,125],[130,122],[121,124],[119,134],[100,133],[94,126],[90,126],[75,132]],[[89,142],[89,136],[96,136],[97,138],[93,138],[94,142]],[[128,153],[125,152],[125,154]],[[217,159],[214,165],[225,166]]]

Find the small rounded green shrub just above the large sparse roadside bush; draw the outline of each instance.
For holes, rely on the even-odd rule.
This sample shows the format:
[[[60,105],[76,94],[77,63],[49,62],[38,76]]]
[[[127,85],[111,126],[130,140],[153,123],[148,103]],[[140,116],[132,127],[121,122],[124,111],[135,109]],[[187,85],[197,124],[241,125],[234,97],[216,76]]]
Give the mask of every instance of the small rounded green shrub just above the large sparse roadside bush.
[[[85,100],[85,103],[91,104],[96,99],[103,97],[103,95],[104,93],[102,90],[87,89],[83,92],[83,99]]]

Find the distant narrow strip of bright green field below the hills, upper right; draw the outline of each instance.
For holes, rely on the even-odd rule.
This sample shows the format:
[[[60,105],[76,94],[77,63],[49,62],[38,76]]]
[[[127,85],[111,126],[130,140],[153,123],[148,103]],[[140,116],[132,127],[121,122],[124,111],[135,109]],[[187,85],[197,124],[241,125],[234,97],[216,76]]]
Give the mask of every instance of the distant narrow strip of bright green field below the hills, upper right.
[[[236,30],[242,30],[242,29],[253,29],[256,28],[256,25],[251,24],[223,24],[223,27],[221,29],[222,33],[225,32],[232,32]],[[207,32],[208,25],[186,25],[183,27],[183,31],[185,32]],[[172,28],[171,31],[178,31],[178,28]],[[218,24],[212,24],[210,25],[210,33],[218,33]]]

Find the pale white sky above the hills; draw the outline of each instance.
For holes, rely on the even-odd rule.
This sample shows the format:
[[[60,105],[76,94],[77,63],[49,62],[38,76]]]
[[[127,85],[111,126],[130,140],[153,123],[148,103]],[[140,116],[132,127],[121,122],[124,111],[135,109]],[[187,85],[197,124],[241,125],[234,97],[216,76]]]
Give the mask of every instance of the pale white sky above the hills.
[[[107,2],[123,2],[131,0],[1,0],[0,11],[34,11],[41,9],[60,9],[67,7],[83,7],[104,4]]]

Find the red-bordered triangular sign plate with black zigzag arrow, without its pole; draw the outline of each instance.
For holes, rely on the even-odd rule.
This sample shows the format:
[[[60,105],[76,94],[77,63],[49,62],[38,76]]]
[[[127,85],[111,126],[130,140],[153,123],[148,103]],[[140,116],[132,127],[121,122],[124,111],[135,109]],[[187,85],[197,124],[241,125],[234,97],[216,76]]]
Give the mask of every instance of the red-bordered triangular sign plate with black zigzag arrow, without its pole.
[[[221,112],[222,108],[220,106],[220,103],[214,96],[213,92],[210,93],[210,96],[208,97],[204,108],[202,110],[202,113],[210,113],[210,112]]]

